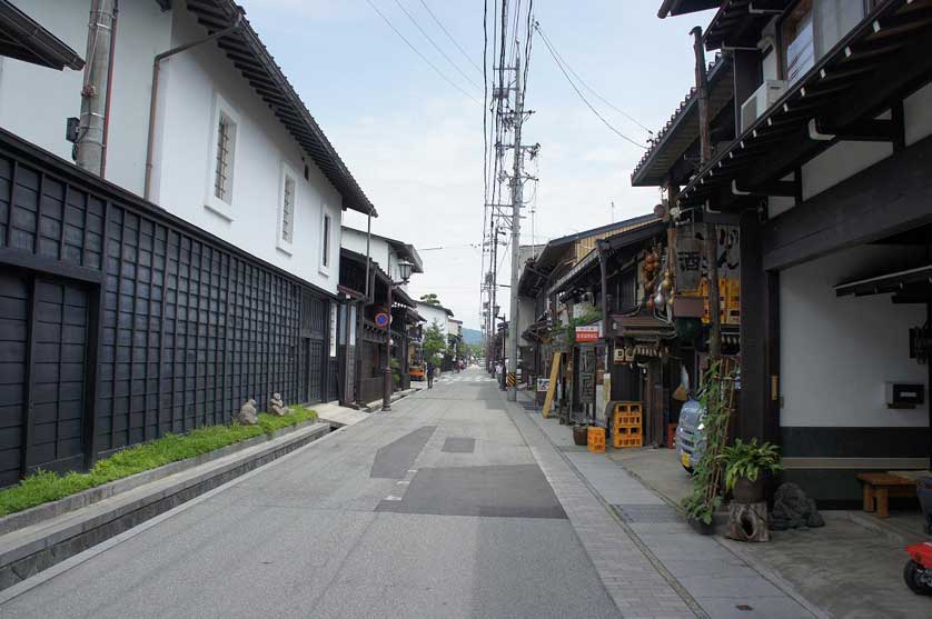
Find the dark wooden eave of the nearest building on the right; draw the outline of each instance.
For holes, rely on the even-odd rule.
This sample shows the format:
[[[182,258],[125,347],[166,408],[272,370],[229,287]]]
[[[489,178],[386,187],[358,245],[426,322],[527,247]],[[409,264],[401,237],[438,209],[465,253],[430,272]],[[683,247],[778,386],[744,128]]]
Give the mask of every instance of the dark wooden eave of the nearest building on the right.
[[[692,177],[681,207],[744,208],[761,196],[794,196],[781,181],[837,141],[893,141],[890,102],[929,80],[929,7],[881,0],[754,122]],[[787,184],[790,182],[790,184]]]

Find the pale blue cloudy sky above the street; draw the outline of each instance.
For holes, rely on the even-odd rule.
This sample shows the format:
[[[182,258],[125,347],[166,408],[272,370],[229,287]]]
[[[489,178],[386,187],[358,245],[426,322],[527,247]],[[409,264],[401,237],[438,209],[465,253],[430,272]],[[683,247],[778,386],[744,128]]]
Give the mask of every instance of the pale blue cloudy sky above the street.
[[[425,4],[482,67],[483,2],[370,1],[459,88],[419,58],[367,0],[240,3],[376,206],[379,217],[373,220],[373,232],[418,248],[425,272],[412,278],[409,291],[418,297],[436,293],[465,327],[478,328],[483,76]],[[432,46],[399,4],[456,66]],[[690,30],[704,27],[712,17],[706,12],[661,20],[660,4],[661,0],[534,2],[534,18],[567,64],[615,108],[654,131],[670,119],[693,82]],[[490,22],[489,17],[489,39]],[[583,92],[618,131],[644,142],[644,129]],[[522,244],[651,212],[660,200],[658,190],[631,187],[631,171],[644,150],[585,107],[536,34],[525,104],[534,113],[525,122],[524,143],[539,143],[541,150],[527,167],[539,181],[536,189],[535,183],[525,189],[528,206]],[[365,229],[366,218],[348,211],[344,223]],[[508,253],[499,248],[499,256],[506,257],[499,281],[506,283]],[[502,292],[500,304],[507,312],[508,291]]]

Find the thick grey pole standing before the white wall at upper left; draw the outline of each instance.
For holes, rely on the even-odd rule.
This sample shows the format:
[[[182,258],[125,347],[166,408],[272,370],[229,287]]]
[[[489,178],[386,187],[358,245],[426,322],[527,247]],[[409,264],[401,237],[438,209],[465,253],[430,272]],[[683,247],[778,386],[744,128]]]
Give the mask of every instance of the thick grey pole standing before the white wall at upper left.
[[[93,0],[88,24],[88,62],[81,87],[81,118],[75,144],[75,161],[78,167],[97,176],[101,176],[103,168],[117,0]]]

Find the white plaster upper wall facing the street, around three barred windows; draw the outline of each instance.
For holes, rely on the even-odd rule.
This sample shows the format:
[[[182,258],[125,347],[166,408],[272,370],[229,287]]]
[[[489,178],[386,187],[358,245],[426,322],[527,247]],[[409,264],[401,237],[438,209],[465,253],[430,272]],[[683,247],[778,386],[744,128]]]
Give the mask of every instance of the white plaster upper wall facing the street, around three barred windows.
[[[205,36],[180,3],[172,11],[172,44]],[[214,132],[214,101],[219,93],[239,116],[231,219],[207,208],[207,182]],[[166,210],[271,262],[336,292],[339,280],[341,199],[266,103],[214,43],[165,61],[159,90],[152,200]],[[277,248],[281,163],[297,172],[291,253]],[[323,212],[330,214],[329,269],[323,269]]]

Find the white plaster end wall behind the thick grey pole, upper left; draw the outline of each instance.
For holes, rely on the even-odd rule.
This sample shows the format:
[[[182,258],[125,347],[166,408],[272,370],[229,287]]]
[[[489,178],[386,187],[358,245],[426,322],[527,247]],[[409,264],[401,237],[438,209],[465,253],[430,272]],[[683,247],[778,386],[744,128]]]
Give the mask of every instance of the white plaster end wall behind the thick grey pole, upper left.
[[[13,4],[87,58],[90,0]],[[170,44],[171,16],[151,0],[123,0],[117,23],[106,178],[142,193],[152,57]],[[81,112],[82,71],[0,60],[0,126],[71,161],[66,119]]]

